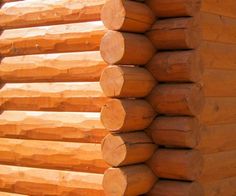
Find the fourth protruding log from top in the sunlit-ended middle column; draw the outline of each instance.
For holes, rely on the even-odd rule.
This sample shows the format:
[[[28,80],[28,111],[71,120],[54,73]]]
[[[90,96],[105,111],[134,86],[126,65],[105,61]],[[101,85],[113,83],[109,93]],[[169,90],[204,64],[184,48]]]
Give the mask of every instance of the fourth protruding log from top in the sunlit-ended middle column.
[[[111,132],[130,132],[147,128],[155,111],[145,100],[111,99],[101,111],[101,121]]]

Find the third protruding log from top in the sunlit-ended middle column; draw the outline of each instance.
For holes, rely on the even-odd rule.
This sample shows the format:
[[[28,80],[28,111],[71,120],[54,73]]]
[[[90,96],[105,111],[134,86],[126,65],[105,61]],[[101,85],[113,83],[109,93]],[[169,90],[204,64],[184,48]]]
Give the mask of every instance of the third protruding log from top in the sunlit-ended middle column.
[[[108,97],[145,97],[156,80],[145,68],[109,66],[103,71],[100,84]]]

